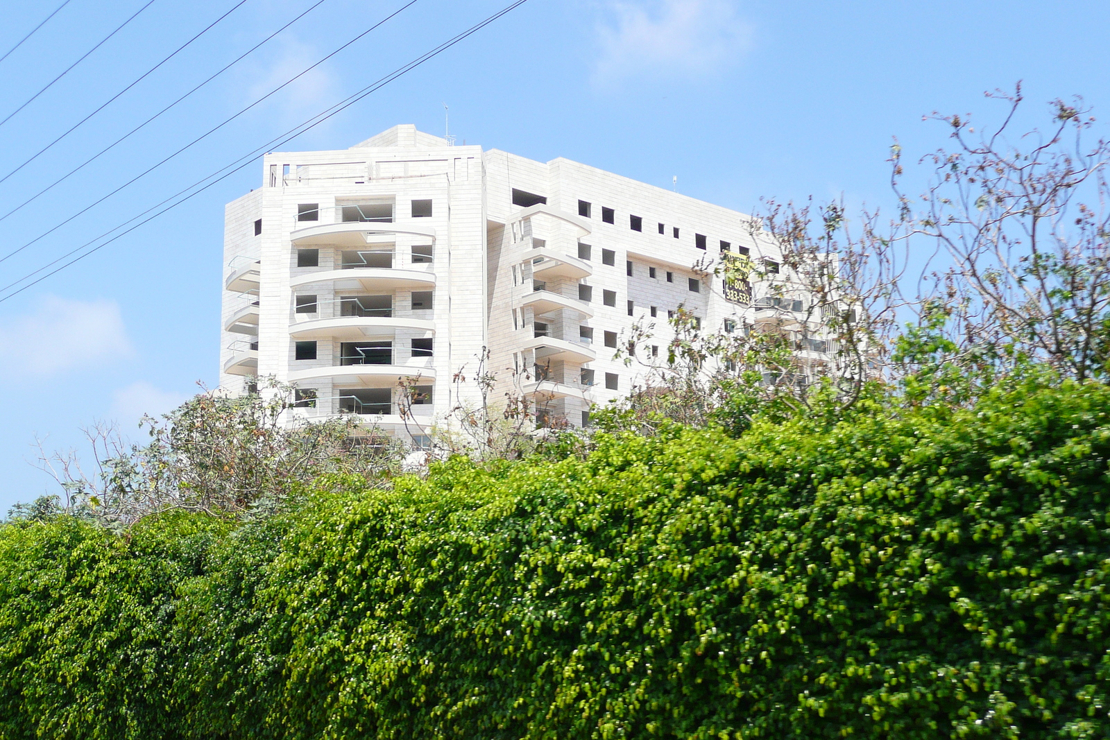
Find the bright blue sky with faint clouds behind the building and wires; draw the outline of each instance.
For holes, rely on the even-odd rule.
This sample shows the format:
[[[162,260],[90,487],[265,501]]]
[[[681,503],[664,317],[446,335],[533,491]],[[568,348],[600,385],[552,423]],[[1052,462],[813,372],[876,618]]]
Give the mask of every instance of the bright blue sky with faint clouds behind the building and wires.
[[[0,61],[0,119],[149,0],[70,0]],[[0,124],[0,176],[238,0],[154,0]],[[0,215],[208,78],[315,0],[246,0],[196,42],[0,183]],[[30,205],[0,220],[7,285],[144,211],[495,12],[417,0],[248,114],[81,216],[74,213],[322,58],[404,0],[324,0],[301,21]],[[61,0],[9,3],[0,54]],[[945,143],[931,111],[997,116],[986,90],[1025,81],[1028,120],[1057,97],[1110,109],[1110,4],[528,0],[286,150],[337,149],[396,123],[537,160],[566,156],[740,211],[760,197],[887,204],[892,135],[907,161]],[[1099,123],[1097,132],[1106,134]],[[223,204],[251,164],[87,260],[0,302],[0,515],[53,490],[32,467],[114,419],[137,439],[218,379]],[[0,295],[7,293],[0,292]]]

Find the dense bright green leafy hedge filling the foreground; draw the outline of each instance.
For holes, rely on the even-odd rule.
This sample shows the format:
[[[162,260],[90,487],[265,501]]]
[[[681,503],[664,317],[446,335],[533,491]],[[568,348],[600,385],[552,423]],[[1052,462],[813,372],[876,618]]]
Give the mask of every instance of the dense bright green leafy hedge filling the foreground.
[[[0,528],[0,738],[1110,737],[1110,389]]]

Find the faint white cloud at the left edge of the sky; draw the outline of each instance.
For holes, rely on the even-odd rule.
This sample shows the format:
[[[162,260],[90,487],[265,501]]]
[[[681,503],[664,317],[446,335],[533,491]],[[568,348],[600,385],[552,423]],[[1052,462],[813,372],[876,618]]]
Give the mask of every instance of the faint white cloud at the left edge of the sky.
[[[44,295],[30,314],[0,323],[0,375],[42,377],[131,356],[114,301]]]

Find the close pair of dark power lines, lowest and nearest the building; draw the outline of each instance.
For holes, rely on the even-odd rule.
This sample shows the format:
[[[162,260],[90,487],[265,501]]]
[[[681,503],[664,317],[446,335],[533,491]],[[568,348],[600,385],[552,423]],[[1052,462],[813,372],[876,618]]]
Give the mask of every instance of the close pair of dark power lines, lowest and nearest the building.
[[[158,216],[162,215],[163,213],[167,213],[168,211],[171,211],[171,210],[178,207],[179,205],[181,205],[185,201],[189,201],[189,200],[195,197],[196,195],[200,195],[202,192],[204,192],[205,190],[208,190],[212,185],[216,184],[218,182],[221,182],[222,180],[225,180],[226,178],[230,178],[232,174],[234,174],[235,172],[239,172],[244,166],[246,166],[248,164],[250,164],[260,152],[270,151],[275,145],[276,146],[281,146],[283,144],[289,143],[293,139],[295,139],[295,138],[300,136],[301,134],[305,133],[306,131],[309,131],[309,130],[311,130],[311,129],[320,125],[321,123],[323,123],[327,119],[332,118],[333,115],[342,112],[343,110],[350,108],[351,105],[353,105],[353,104],[357,103],[359,101],[365,99],[370,94],[372,94],[372,93],[376,92],[377,90],[382,89],[383,87],[385,87],[390,82],[392,82],[392,81],[396,80],[397,78],[400,78],[400,77],[402,77],[402,75],[411,72],[415,68],[420,67],[424,62],[426,62],[430,59],[432,59],[433,57],[438,55],[440,53],[442,53],[443,51],[446,51],[447,49],[450,49],[451,47],[455,45],[460,41],[466,39],[467,37],[472,36],[474,33],[476,33],[481,29],[483,29],[486,26],[488,26],[490,23],[496,21],[502,16],[505,16],[506,13],[515,10],[516,8],[518,8],[519,6],[524,4],[525,2],[527,2],[527,0],[515,0],[515,2],[513,2],[509,6],[503,8],[502,10],[497,11],[493,16],[490,16],[488,18],[486,18],[485,20],[481,21],[480,23],[477,23],[475,26],[472,26],[466,31],[463,31],[462,33],[455,36],[454,38],[452,38],[452,39],[450,39],[450,40],[441,43],[435,49],[432,49],[431,51],[425,52],[421,57],[417,57],[413,61],[408,62],[407,64],[404,64],[404,65],[397,68],[396,70],[394,70],[390,74],[385,75],[384,78],[379,79],[376,82],[373,82],[372,84],[367,85],[366,88],[363,88],[362,90],[360,90],[359,92],[354,93],[353,95],[350,95],[349,98],[344,99],[340,103],[336,103],[336,104],[332,105],[331,108],[325,109],[323,112],[317,113],[316,115],[312,116],[311,119],[309,119],[304,123],[302,123],[302,124],[300,124],[297,126],[294,126],[293,129],[290,129],[289,131],[286,131],[281,136],[279,136],[276,139],[270,140],[263,146],[260,146],[260,148],[253,150],[252,152],[250,152],[249,154],[245,154],[245,155],[239,158],[238,160],[233,161],[231,164],[228,164],[228,165],[221,168],[220,170],[216,170],[214,173],[208,175],[208,178],[199,180],[196,183],[194,183],[190,187],[188,187],[185,190],[182,190],[182,191],[179,191],[178,193],[175,193],[174,195],[171,195],[170,197],[165,199],[164,201],[162,201],[158,205],[154,205],[154,206],[148,209],[147,211],[143,211],[138,216],[134,216],[134,217],[130,219],[129,221],[123,222],[119,226],[115,226],[114,229],[104,232],[100,236],[97,236],[95,239],[93,239],[93,240],[91,240],[89,242],[85,242],[84,244],[82,244],[81,246],[77,247],[75,250],[71,250],[67,254],[63,254],[62,256],[60,256],[57,260],[48,263],[47,265],[44,265],[42,267],[39,267],[34,272],[31,272],[31,273],[24,275],[23,277],[19,278],[18,281],[16,281],[13,283],[10,283],[9,285],[6,285],[4,287],[0,288],[0,291],[7,291],[8,288],[13,287],[13,286],[18,285],[19,283],[22,283],[23,281],[28,280],[29,277],[32,277],[32,276],[37,275],[38,273],[42,272],[43,270],[47,270],[48,267],[50,267],[50,266],[52,266],[54,264],[58,264],[62,260],[64,260],[64,259],[67,259],[67,257],[69,257],[71,255],[75,254],[77,252],[80,252],[81,250],[85,249],[87,246],[89,246],[91,244],[94,244],[95,242],[100,241],[101,239],[103,239],[104,236],[111,234],[112,232],[119,231],[120,229],[122,229],[127,224],[132,223],[132,222],[134,222],[134,221],[137,221],[139,219],[142,219],[142,216],[145,215],[147,213],[150,213],[154,209],[158,209],[159,206],[163,205],[164,203],[168,203],[169,201],[173,200],[174,197],[178,197],[179,195],[184,194],[185,192],[188,192],[192,187],[195,187],[196,185],[199,185],[200,183],[204,182],[205,180],[210,180],[212,178],[215,178],[214,180],[212,180],[212,182],[208,183],[206,185],[204,185],[202,187],[199,187],[198,190],[193,191],[192,193],[189,193],[188,195],[184,195],[183,197],[181,197],[180,200],[178,200],[174,203],[171,203],[170,205],[165,206],[161,211],[158,211],[157,213],[154,213],[154,214],[152,214],[152,215],[150,215],[150,216],[148,216],[145,219],[142,219],[142,221],[139,221],[139,223],[135,223],[130,229],[127,229],[125,231],[120,232],[115,236],[112,236],[110,240],[108,240],[108,241],[105,241],[105,242],[103,242],[101,244],[98,244],[97,246],[93,246],[91,250],[88,250],[88,251],[85,251],[82,254],[79,254],[78,256],[73,257],[69,262],[67,262],[67,263],[64,263],[64,264],[56,267],[54,270],[51,270],[46,275],[42,275],[41,277],[39,277],[39,278],[37,278],[37,280],[28,283],[27,285],[23,285],[19,290],[12,291],[8,295],[6,295],[3,297],[0,297],[0,303],[3,303],[4,301],[7,301],[7,300],[9,300],[9,298],[11,298],[11,297],[13,297],[13,296],[22,293],[27,288],[41,283],[42,281],[47,280],[51,275],[54,275],[54,274],[61,272],[65,267],[69,267],[70,265],[74,264],[75,262],[79,262],[79,261],[83,260],[84,257],[89,256],[90,254],[97,252],[98,250],[101,250],[104,246],[108,246],[109,244],[111,244],[115,240],[121,239],[122,236],[125,236],[127,234],[131,233],[135,229],[139,229],[143,224],[149,223],[150,221],[153,221],[154,219],[157,219]],[[226,172],[224,172],[224,170],[226,170]],[[222,175],[220,174],[221,172],[223,172]],[[216,175],[220,175],[220,176],[216,178]]]

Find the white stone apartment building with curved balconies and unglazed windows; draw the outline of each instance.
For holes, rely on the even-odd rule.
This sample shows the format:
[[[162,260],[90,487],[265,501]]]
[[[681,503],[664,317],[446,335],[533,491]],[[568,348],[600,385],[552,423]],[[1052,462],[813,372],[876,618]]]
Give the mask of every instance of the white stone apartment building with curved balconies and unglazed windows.
[[[710,331],[753,323],[757,308],[696,264],[778,260],[736,211],[413,125],[271,153],[262,174],[226,206],[221,387],[273,376],[296,388],[295,414],[362,414],[417,443],[478,403],[484,355],[491,398],[587,423],[646,372],[614,356],[634,322],[658,336],[647,363],[665,358],[679,305]],[[401,384],[416,399],[408,419]]]

